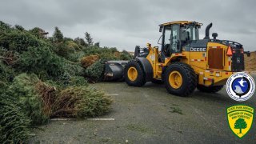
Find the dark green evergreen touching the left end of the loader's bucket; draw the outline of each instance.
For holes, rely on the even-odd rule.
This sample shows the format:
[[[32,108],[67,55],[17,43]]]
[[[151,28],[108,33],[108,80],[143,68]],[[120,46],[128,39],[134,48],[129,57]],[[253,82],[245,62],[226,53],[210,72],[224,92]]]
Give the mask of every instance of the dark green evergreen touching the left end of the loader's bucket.
[[[86,69],[86,77],[90,78],[93,82],[98,82],[102,79],[103,72],[104,62],[99,60]]]

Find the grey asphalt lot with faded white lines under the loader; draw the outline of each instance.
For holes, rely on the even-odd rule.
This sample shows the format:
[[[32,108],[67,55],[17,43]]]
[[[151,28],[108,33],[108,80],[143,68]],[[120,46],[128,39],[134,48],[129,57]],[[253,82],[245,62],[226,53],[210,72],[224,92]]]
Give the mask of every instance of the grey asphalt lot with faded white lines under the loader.
[[[255,78],[254,78],[255,79]],[[254,124],[242,139],[237,138],[226,118],[226,107],[256,106],[256,95],[235,102],[223,89],[218,94],[194,91],[188,98],[166,93],[163,85],[148,82],[130,87],[125,82],[94,84],[114,99],[110,114],[94,120],[54,121],[30,142],[42,143],[255,143]],[[114,118],[114,119],[109,119]]]

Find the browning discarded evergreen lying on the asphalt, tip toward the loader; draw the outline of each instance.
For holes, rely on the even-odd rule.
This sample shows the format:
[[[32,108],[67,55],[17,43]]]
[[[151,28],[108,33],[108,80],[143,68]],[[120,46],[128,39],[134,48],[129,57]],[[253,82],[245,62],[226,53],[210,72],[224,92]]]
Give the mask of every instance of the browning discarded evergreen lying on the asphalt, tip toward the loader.
[[[112,100],[88,86],[70,86],[58,94],[53,117],[85,118],[106,114]]]

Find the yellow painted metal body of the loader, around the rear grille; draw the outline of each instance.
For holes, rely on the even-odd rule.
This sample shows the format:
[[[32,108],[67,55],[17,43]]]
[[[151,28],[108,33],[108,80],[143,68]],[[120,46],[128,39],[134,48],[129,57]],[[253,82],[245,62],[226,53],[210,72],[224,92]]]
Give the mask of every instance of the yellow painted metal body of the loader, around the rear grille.
[[[221,46],[223,49],[223,64],[224,64],[224,69],[223,70],[209,70],[208,62],[207,62],[207,52],[190,52],[190,51],[182,51],[181,54],[172,54],[170,58],[166,58],[165,62],[158,62],[158,47],[151,47],[150,45],[147,45],[149,48],[149,54],[146,57],[149,61],[150,64],[153,67],[154,70],[154,78],[161,79],[162,78],[162,67],[163,66],[170,66],[171,65],[171,60],[175,58],[180,58],[182,57],[182,62],[189,64],[193,69],[196,74],[198,74],[198,84],[201,85],[206,85],[210,86],[212,84],[211,80],[206,80],[207,78],[209,79],[214,79],[214,86],[218,85],[225,85],[227,78],[230,77],[232,72],[229,71],[228,69],[228,59],[229,57],[226,56],[226,50],[227,46],[222,45],[221,43],[216,43],[216,42],[209,42],[207,46],[207,50],[213,47],[218,46],[218,48]]]

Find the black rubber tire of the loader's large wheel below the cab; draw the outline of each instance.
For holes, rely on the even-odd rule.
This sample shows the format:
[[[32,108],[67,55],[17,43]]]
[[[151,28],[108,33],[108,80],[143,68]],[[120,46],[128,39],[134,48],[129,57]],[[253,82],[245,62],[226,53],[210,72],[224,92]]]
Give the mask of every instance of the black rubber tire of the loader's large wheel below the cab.
[[[169,76],[173,71],[178,71],[182,77],[182,84],[177,89],[172,87],[169,82]],[[186,97],[195,90],[197,86],[197,76],[194,73],[194,70],[188,64],[183,62],[174,62],[166,68],[164,82],[166,85],[166,90],[170,94]]]

